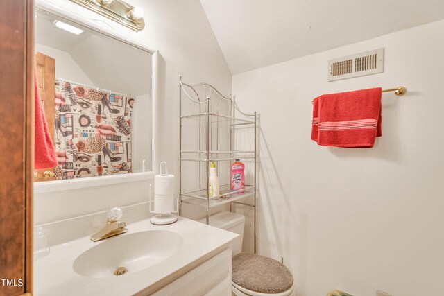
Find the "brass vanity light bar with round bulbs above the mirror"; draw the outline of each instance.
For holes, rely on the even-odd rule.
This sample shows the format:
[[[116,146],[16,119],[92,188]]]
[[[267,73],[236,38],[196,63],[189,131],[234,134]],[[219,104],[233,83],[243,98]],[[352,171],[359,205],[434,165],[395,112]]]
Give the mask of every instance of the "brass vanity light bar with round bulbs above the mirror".
[[[117,21],[119,24],[140,31],[145,27],[144,10],[130,6],[122,0],[71,0],[88,8],[103,17]]]

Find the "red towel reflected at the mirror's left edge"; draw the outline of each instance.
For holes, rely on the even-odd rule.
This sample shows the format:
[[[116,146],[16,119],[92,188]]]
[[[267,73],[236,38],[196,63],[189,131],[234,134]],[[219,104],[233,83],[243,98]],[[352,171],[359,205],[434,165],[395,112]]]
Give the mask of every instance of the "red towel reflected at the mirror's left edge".
[[[52,168],[57,166],[56,149],[49,134],[48,123],[40,99],[39,87],[37,85],[37,71],[35,76],[35,156],[34,168]]]

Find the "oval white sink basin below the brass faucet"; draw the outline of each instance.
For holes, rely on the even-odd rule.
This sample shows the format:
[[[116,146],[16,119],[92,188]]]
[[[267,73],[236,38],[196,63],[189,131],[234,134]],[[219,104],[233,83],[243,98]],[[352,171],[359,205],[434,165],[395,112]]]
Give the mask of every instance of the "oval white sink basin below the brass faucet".
[[[80,254],[73,268],[84,277],[105,278],[117,277],[114,272],[123,267],[128,271],[122,277],[164,261],[178,252],[182,241],[182,236],[167,230],[121,234]]]

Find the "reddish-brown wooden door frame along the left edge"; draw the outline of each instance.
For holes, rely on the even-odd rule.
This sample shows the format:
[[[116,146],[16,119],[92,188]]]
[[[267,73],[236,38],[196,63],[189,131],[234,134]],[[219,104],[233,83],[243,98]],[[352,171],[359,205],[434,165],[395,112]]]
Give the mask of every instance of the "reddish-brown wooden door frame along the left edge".
[[[1,295],[33,293],[34,0],[0,10]],[[19,279],[22,279],[20,285]]]

